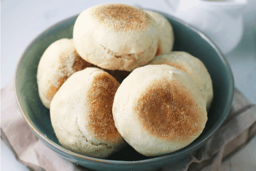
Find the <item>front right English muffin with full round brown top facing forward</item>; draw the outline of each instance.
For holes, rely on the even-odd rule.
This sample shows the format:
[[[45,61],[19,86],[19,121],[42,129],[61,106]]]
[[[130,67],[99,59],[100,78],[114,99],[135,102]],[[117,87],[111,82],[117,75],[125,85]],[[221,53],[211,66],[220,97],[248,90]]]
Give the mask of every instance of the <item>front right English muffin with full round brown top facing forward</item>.
[[[146,156],[186,147],[203,131],[205,100],[195,81],[169,65],[147,65],[123,80],[113,103],[118,132]]]

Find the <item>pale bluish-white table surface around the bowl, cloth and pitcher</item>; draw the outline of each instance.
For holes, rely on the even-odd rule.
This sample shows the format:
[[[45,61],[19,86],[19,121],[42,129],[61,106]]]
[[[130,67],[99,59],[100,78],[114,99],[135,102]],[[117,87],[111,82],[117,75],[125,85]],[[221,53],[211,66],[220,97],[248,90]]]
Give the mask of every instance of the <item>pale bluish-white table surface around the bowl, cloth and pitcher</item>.
[[[79,14],[84,9],[102,3],[125,3],[142,8],[172,13],[166,1],[124,0],[124,1],[78,1],[78,0],[1,0],[1,88],[13,78],[18,61],[30,42],[51,25]],[[252,102],[256,103],[256,6],[252,0],[243,13],[244,34],[239,45],[224,54],[234,75],[235,87]],[[253,10],[255,10],[253,12]],[[178,16],[177,16],[178,17]],[[217,46],[221,46],[215,42]],[[248,145],[256,148],[256,139]],[[239,155],[254,156],[249,163],[255,165],[254,150],[249,148]],[[243,162],[240,163],[243,165]],[[248,162],[248,161],[247,161]],[[243,168],[243,167],[241,167]],[[1,139],[1,170],[28,171],[16,161],[11,151]]]

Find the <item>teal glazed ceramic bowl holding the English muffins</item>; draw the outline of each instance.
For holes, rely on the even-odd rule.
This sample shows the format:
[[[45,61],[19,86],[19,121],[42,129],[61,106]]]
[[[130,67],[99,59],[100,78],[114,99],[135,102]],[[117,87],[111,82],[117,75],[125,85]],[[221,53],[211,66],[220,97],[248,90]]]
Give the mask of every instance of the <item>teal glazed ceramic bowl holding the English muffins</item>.
[[[174,51],[185,51],[203,61],[208,69],[214,90],[212,107],[203,133],[190,145],[161,157],[146,157],[130,146],[107,159],[96,159],[63,148],[53,131],[50,112],[40,101],[36,72],[40,57],[54,41],[73,37],[77,16],[59,22],[37,38],[25,50],[16,70],[15,94],[21,113],[36,136],[54,152],[69,161],[94,170],[151,170],[170,165],[202,147],[217,131],[227,116],[234,94],[234,81],[230,67],[218,48],[203,33],[170,15],[165,16],[173,26]]]

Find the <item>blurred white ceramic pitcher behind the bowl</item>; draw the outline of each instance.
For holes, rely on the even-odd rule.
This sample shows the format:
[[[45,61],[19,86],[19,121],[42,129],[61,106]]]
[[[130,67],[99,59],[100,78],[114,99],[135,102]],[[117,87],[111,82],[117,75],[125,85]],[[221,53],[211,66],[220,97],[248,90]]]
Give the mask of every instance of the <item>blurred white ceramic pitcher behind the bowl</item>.
[[[247,0],[165,0],[170,13],[207,35],[227,54],[243,36]]]

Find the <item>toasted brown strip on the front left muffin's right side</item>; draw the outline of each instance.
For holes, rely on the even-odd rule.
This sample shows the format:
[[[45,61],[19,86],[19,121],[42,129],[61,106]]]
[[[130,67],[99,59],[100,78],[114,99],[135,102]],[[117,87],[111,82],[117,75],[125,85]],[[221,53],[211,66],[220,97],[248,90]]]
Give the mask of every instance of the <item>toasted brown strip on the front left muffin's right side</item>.
[[[112,106],[119,87],[115,78],[106,72],[99,72],[90,83],[87,103],[89,102],[89,122],[96,137],[111,141],[120,134],[115,127]],[[115,140],[117,141],[117,140]]]

